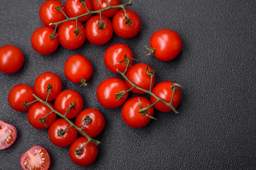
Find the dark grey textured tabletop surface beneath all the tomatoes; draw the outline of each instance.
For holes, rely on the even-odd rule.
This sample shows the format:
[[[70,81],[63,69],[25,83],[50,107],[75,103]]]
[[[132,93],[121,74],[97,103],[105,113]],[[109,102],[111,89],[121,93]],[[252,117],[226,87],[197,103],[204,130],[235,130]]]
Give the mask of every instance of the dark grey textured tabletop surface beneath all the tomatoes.
[[[19,72],[0,73],[0,120],[15,125],[18,131],[13,146],[0,151],[1,170],[20,168],[20,155],[33,145],[48,150],[52,170],[255,168],[256,1],[134,0],[129,8],[142,20],[135,38],[114,35],[104,46],[86,41],[77,50],[59,46],[48,56],[37,54],[30,44],[31,33],[42,26],[38,9],[43,2],[0,1],[0,46],[18,46],[25,55]],[[182,52],[170,62],[144,54],[150,35],[161,28],[177,31],[183,41]],[[156,111],[156,121],[131,129],[121,119],[121,107],[106,109],[98,103],[97,85],[105,78],[119,77],[103,63],[104,51],[115,43],[127,44],[140,62],[148,63],[156,71],[156,83],[171,80],[183,84],[179,114]],[[63,73],[65,59],[77,53],[88,57],[94,68],[88,88],[70,83]],[[13,85],[33,86],[36,76],[46,71],[58,74],[63,89],[77,90],[84,108],[97,108],[106,119],[104,131],[96,137],[102,143],[98,158],[89,167],[74,165],[68,147],[51,144],[47,130],[32,128],[26,113],[13,111],[8,105]]]

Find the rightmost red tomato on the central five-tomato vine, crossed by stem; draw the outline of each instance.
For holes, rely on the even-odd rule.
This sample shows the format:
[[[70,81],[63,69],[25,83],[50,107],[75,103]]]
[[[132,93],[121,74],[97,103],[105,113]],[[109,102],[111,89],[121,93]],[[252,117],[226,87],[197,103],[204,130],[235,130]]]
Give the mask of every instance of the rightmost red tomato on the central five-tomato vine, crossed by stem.
[[[171,96],[173,94],[173,90],[171,89],[172,85],[173,85],[172,81],[163,81],[163,82],[155,85],[152,92],[157,97],[161,98],[162,100],[164,100],[166,102],[171,102]],[[157,101],[157,99],[154,98],[153,96],[150,96],[150,101],[152,103],[154,103]],[[177,88],[177,90],[174,92],[174,96],[173,96],[173,102],[172,102],[173,107],[177,108],[180,105],[180,101],[181,101],[181,91],[180,91],[180,88]],[[162,102],[157,102],[153,106],[155,107],[155,109],[157,109],[158,111],[161,111],[161,112],[172,111],[172,109],[170,107],[168,107],[167,105],[165,105]]]

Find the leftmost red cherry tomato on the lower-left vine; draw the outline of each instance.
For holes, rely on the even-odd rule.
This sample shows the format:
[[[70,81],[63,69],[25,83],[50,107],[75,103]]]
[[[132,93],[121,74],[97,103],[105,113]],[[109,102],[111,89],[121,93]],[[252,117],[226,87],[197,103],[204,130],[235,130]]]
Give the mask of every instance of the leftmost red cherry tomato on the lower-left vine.
[[[27,111],[31,105],[23,106],[23,102],[33,102],[36,100],[32,94],[35,94],[34,89],[27,84],[18,84],[11,88],[8,94],[8,102],[15,111]]]

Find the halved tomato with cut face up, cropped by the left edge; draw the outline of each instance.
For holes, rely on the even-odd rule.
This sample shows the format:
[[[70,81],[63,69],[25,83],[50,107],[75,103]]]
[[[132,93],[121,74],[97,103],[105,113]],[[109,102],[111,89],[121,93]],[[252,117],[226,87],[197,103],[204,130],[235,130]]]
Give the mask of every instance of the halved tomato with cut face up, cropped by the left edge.
[[[9,148],[16,140],[16,128],[0,120],[0,150]]]

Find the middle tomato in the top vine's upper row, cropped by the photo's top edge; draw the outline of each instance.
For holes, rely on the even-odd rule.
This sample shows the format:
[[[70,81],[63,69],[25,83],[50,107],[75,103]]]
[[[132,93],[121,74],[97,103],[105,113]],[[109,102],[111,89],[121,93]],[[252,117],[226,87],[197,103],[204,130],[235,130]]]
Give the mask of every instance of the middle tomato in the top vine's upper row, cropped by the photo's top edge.
[[[83,3],[85,3],[89,11],[93,11],[91,0],[84,0]],[[67,16],[69,17],[76,17],[88,12],[87,9],[81,3],[81,0],[66,0],[65,9],[67,11]],[[91,16],[92,15],[85,15],[83,17],[80,17],[78,21],[84,22],[88,20]]]

